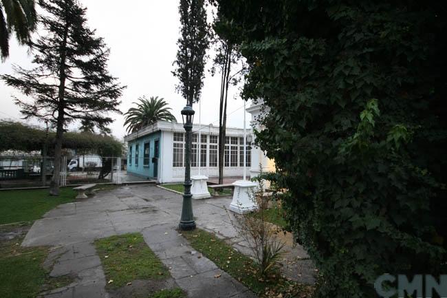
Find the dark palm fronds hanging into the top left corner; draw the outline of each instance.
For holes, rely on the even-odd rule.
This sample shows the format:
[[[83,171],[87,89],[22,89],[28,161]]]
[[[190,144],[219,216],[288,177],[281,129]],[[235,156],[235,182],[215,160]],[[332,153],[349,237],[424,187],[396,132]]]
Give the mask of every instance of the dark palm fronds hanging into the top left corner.
[[[34,0],[0,0],[0,56],[9,56],[9,39],[12,31],[17,41],[25,44],[36,29],[36,10]]]

